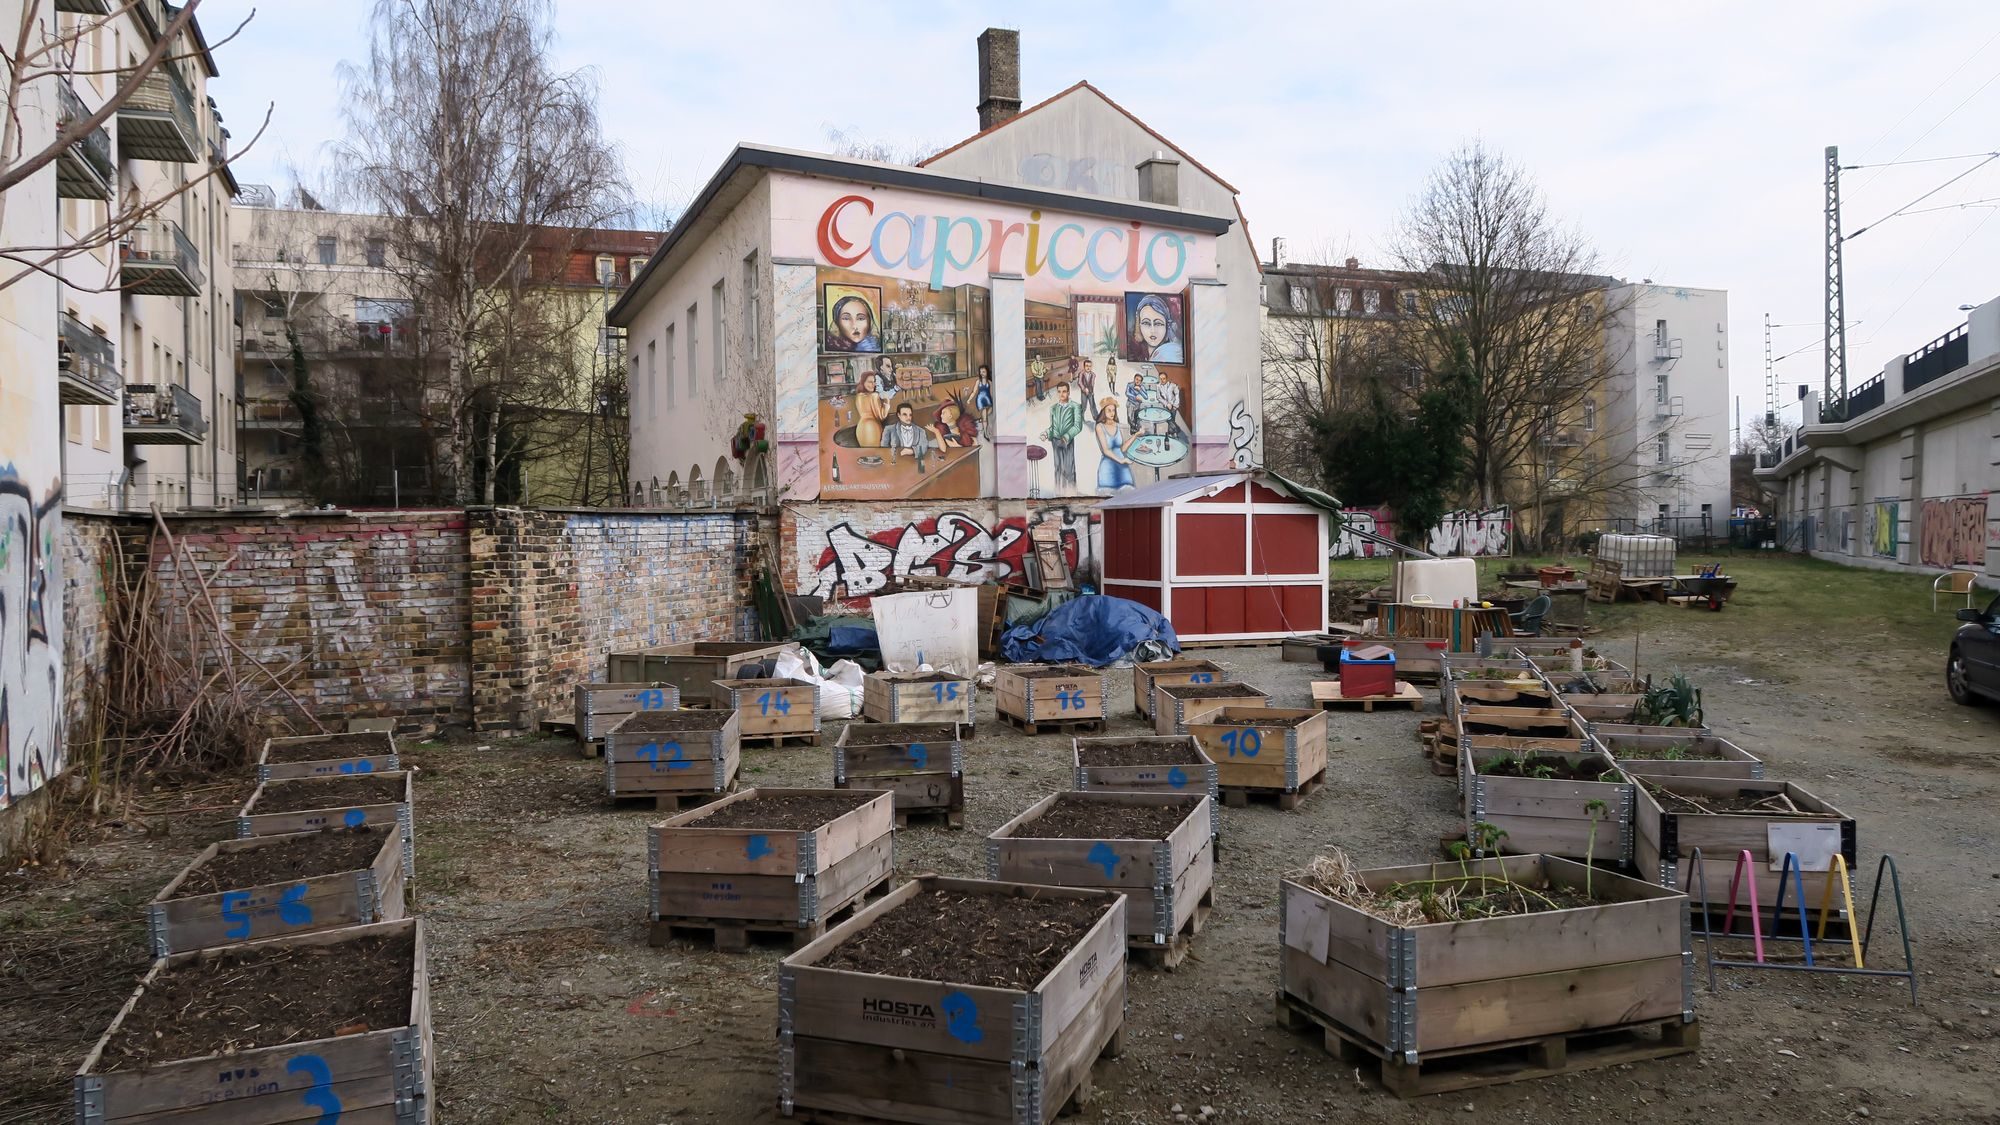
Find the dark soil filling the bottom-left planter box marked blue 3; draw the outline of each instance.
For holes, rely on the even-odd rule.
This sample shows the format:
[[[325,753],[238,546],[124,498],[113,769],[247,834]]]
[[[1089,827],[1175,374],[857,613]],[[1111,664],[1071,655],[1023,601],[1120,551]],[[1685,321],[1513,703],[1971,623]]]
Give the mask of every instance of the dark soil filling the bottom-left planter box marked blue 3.
[[[146,985],[98,1069],[406,1027],[414,975],[414,933],[194,961]]]

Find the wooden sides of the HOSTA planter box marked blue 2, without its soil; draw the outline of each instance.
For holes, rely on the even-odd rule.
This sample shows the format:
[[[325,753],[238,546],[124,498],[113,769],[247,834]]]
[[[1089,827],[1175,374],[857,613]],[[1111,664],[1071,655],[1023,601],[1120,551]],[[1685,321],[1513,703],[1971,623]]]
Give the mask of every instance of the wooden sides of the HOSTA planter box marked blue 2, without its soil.
[[[842,941],[932,891],[1102,903],[1032,989],[824,969]],[[778,965],[778,1111],[918,1125],[1048,1125],[1122,1047],[1124,901],[1106,891],[924,875]]]

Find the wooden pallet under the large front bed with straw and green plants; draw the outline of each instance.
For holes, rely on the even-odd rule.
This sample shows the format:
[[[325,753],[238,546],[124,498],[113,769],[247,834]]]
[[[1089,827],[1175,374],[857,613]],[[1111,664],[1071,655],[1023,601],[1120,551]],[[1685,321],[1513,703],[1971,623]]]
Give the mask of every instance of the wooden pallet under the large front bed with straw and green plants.
[[[1682,1023],[1682,1017],[1676,1015],[1568,1035],[1436,1051],[1416,1063],[1402,1063],[1378,1051],[1366,1037],[1284,993],[1278,993],[1278,1025],[1292,1031],[1320,1031],[1328,1055],[1340,1059],[1344,1067],[1374,1069],[1382,1087],[1396,1097],[1424,1097],[1666,1059],[1694,1053],[1702,1045],[1702,1025]]]

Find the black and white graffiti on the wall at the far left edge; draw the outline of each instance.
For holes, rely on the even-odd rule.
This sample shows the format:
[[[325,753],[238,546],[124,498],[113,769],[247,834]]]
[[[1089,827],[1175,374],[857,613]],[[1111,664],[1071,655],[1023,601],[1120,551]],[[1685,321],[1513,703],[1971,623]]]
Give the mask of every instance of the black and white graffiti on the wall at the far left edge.
[[[62,773],[62,484],[0,466],[0,809]]]

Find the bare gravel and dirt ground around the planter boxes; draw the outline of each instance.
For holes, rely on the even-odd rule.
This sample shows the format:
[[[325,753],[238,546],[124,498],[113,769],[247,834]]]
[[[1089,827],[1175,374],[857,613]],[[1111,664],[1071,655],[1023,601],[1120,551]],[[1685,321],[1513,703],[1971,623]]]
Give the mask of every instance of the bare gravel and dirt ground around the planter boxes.
[[[1860,631],[1864,657],[1852,629],[1784,625],[1776,595],[1770,613],[1754,591],[1738,597],[1742,609],[1724,615],[1620,611],[1598,643],[1616,651],[1616,637],[1640,625],[1648,669],[1684,669],[1704,685],[1720,733],[1860,821],[1866,875],[1880,853],[1898,857],[1920,943],[1920,1009],[1894,981],[1726,973],[1720,993],[1696,993],[1698,1059],[1414,1103],[1358,1083],[1272,1023],[1276,879],[1326,845],[1366,865],[1428,859],[1454,831],[1456,789],[1418,757],[1418,715],[1340,713],[1326,789],[1294,813],[1224,811],[1210,927],[1178,973],[1134,967],[1128,1049],[1100,1063],[1086,1119],[1170,1123],[1174,1105],[1192,1119],[1206,1105],[1260,1123],[1464,1121],[1468,1111],[2000,1121],[2000,711],[1944,699],[1942,615],[1880,637]],[[1278,705],[1302,705],[1318,673],[1276,649],[1208,655]],[[1112,699],[1110,733],[1142,733],[1126,673],[1112,673]],[[902,875],[980,875],[984,835],[1068,787],[1068,739],[1022,737],[990,721],[990,703],[968,747],[966,829],[898,833]],[[418,887],[432,927],[444,1121],[778,1121],[780,951],[646,945],[654,813],[606,807],[600,767],[568,743],[418,747],[406,761],[422,769]],[[828,749],[744,755],[746,785],[826,785],[830,775]],[[68,1073],[144,969],[138,903],[220,831],[214,813],[128,819],[74,853],[78,871],[0,879],[0,1125],[66,1119]],[[1892,939],[1878,941],[1896,961]]]

